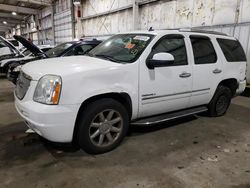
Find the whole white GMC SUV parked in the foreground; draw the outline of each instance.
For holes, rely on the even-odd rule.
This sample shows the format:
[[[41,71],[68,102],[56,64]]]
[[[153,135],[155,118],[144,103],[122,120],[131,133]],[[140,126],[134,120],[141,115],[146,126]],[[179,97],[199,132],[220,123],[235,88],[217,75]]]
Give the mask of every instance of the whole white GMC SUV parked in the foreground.
[[[117,147],[129,125],[224,115],[245,86],[246,56],[235,38],[139,31],[115,35],[87,56],[23,66],[15,105],[42,137],[97,154]]]

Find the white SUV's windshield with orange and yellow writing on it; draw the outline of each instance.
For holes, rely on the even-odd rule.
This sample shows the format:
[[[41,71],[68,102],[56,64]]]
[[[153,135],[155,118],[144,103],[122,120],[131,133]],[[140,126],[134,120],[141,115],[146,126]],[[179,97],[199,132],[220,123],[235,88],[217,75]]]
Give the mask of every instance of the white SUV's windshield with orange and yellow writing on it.
[[[147,34],[115,35],[91,50],[88,55],[118,63],[131,63],[140,57],[153,37],[154,35]]]

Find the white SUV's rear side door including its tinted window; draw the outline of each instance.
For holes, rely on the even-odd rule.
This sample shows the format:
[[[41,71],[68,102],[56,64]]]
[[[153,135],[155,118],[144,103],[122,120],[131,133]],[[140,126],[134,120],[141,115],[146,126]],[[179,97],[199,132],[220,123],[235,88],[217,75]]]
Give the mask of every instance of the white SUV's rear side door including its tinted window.
[[[215,40],[207,36],[190,36],[194,57],[190,106],[208,104],[222,79],[222,62],[215,51]]]

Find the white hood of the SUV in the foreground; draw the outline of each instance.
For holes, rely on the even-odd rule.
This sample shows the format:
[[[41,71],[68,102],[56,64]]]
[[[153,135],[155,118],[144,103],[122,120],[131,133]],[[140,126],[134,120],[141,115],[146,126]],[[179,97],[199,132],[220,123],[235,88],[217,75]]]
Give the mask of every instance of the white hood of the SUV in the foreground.
[[[100,70],[113,69],[119,66],[121,64],[94,57],[70,56],[32,61],[25,64],[22,67],[22,71],[31,76],[33,80],[39,80],[47,74],[61,77],[90,71],[94,71],[97,74]]]

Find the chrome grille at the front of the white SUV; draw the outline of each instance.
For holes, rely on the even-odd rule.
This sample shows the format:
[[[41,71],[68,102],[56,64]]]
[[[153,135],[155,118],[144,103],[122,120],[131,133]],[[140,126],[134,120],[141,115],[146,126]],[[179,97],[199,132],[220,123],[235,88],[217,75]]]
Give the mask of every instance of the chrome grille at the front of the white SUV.
[[[30,81],[30,77],[21,71],[18,76],[15,89],[15,94],[18,99],[22,100],[24,98],[30,87]]]

